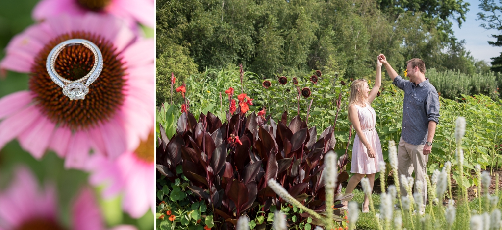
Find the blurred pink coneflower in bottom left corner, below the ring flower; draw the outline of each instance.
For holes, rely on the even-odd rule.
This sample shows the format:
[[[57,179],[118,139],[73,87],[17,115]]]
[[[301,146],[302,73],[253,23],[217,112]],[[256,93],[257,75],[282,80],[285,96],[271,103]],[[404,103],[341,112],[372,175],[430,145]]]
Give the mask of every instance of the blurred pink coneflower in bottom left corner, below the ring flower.
[[[54,184],[46,183],[39,189],[33,174],[18,167],[14,179],[5,191],[0,192],[0,229],[3,230],[104,230],[106,229],[99,207],[90,189],[80,191],[71,208],[71,226],[58,219],[57,195]],[[114,230],[136,229],[120,225]]]

